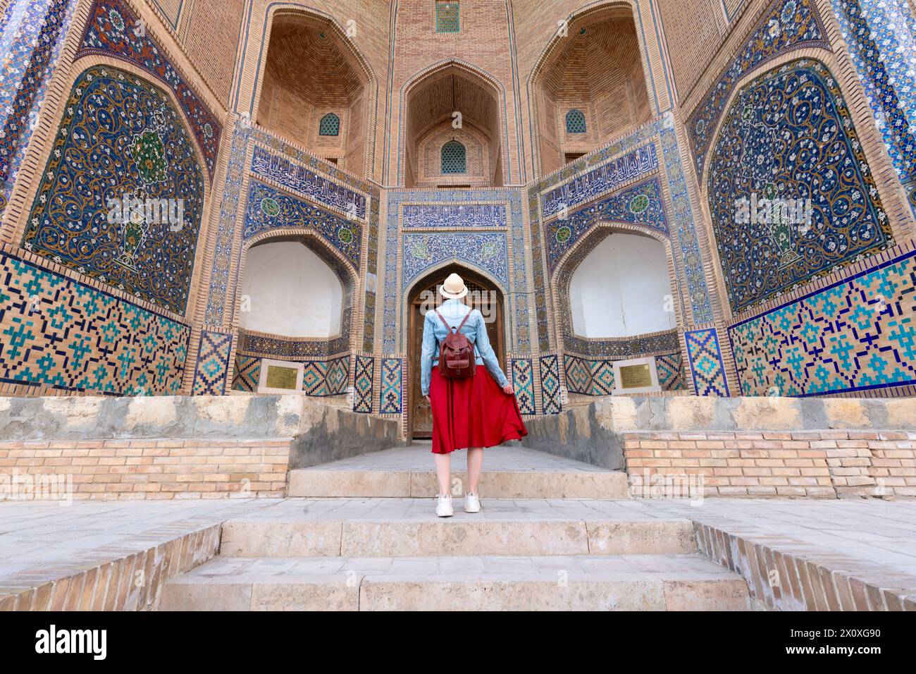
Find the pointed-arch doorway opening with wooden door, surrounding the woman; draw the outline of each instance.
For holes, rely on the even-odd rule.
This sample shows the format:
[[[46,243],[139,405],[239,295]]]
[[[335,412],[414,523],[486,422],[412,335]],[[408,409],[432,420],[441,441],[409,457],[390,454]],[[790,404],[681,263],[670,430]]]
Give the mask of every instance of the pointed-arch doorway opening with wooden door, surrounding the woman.
[[[468,293],[464,302],[484,315],[486,334],[496,351],[500,367],[506,370],[506,338],[503,322],[503,293],[484,275],[460,264],[432,271],[416,282],[408,295],[408,436],[432,437],[430,403],[420,392],[420,348],[423,341],[423,319],[426,312],[442,302],[439,287],[451,273],[459,274]],[[508,376],[508,373],[507,373]]]

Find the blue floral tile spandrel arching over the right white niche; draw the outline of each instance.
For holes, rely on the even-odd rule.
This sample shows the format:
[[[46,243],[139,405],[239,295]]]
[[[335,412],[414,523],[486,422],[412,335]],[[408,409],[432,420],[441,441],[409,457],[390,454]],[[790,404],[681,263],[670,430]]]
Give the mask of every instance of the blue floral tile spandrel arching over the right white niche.
[[[547,260],[553,271],[563,254],[599,222],[626,222],[668,233],[668,218],[661,202],[658,178],[649,178],[620,193],[584,206],[567,218],[557,218],[547,226]]]

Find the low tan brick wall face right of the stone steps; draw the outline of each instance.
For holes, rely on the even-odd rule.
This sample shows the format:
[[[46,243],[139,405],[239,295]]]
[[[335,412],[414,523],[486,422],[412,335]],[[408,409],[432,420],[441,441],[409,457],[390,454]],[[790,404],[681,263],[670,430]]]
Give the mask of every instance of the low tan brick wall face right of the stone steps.
[[[630,481],[703,476],[707,496],[916,496],[916,432],[631,432]]]

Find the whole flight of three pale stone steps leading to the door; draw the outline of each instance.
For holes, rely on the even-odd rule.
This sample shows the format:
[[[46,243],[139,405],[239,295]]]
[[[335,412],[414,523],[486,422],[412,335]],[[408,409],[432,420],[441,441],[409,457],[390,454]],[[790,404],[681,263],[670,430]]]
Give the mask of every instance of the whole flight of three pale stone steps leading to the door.
[[[623,473],[490,450],[484,511],[442,519],[429,446],[290,476],[289,498],[227,520],[219,555],[170,579],[169,610],[745,610],[747,583],[687,519],[640,514]],[[458,468],[464,454],[454,455]],[[461,473],[454,479],[460,491]]]

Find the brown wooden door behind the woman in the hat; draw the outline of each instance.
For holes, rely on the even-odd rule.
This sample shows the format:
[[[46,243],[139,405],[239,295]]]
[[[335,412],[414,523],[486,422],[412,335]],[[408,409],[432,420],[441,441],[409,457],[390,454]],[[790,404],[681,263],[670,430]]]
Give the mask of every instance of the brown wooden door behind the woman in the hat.
[[[496,352],[496,359],[499,360],[499,367],[506,370],[505,351],[503,350],[503,302],[502,293],[499,293],[492,283],[487,282],[484,278],[477,276],[471,271],[462,268],[447,269],[438,271],[435,275],[435,281],[431,285],[418,284],[418,289],[412,293],[408,316],[408,360],[409,360],[409,392],[408,392],[408,427],[410,435],[416,439],[432,437],[432,411],[430,403],[427,403],[420,390],[420,349],[423,343],[423,319],[421,313],[425,309],[424,303],[427,302],[428,294],[423,291],[430,291],[439,295],[439,286],[452,271],[456,271],[464,279],[464,284],[468,288],[468,300],[466,304],[471,304],[473,308],[480,308],[474,304],[474,297],[480,296],[479,293],[486,291],[491,293],[490,297],[495,297],[496,302],[492,307],[492,312],[487,312],[492,316],[492,320],[486,323],[486,335],[490,338],[490,344]],[[474,292],[477,292],[475,295]]]

